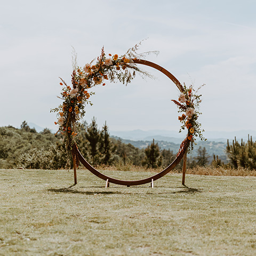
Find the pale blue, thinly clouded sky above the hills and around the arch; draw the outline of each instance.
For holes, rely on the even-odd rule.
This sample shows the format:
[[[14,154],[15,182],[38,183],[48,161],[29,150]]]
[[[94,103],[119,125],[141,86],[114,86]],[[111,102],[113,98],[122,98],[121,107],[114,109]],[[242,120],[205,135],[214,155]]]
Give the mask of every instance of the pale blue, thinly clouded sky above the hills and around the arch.
[[[73,47],[83,67],[106,54],[139,52],[181,83],[202,87],[199,122],[206,131],[256,130],[256,2],[254,0],[1,1],[0,126],[23,121],[57,129],[51,108],[70,83]],[[179,91],[165,75],[142,67],[127,86],[93,87],[84,120],[112,131],[177,130]]]

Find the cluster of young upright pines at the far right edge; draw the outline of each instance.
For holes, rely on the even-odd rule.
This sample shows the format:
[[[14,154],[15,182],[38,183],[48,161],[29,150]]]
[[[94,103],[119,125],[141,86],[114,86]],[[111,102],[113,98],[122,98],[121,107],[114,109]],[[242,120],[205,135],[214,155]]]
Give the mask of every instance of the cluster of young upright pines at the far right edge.
[[[246,143],[243,140],[238,143],[236,137],[232,145],[228,141],[226,153],[229,163],[235,169],[238,169],[238,167],[250,170],[256,169],[256,141],[253,142],[249,135]]]

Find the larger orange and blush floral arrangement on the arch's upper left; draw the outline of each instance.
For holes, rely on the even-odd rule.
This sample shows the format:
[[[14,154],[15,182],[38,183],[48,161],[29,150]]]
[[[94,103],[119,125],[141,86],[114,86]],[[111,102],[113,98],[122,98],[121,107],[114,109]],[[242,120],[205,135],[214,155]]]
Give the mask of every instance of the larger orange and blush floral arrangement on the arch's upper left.
[[[141,42],[120,57],[117,54],[108,54],[107,56],[102,47],[101,55],[87,63],[83,68],[77,66],[76,54],[73,54],[72,86],[69,86],[60,78],[62,91],[61,97],[58,98],[63,100],[63,103],[57,108],[51,109],[51,112],[57,112],[58,121],[55,124],[59,125],[58,132],[64,135],[68,152],[71,152],[71,146],[76,141],[77,130],[80,125],[79,121],[85,115],[85,106],[87,104],[93,105],[90,97],[95,93],[89,92],[91,87],[100,84],[105,86],[106,81],[119,81],[127,85],[131,83],[136,73],[139,73],[142,77],[153,77],[138,68],[133,63],[133,59],[143,58],[150,53],[158,54],[158,52],[137,53],[140,44]]]

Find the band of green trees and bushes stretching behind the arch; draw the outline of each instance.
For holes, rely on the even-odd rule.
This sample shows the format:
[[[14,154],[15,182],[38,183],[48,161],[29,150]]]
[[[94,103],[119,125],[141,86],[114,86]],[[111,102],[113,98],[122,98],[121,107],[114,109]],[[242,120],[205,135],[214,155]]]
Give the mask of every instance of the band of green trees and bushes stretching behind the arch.
[[[97,165],[137,165],[150,168],[167,167],[176,156],[170,149],[161,149],[153,141],[145,149],[110,137],[107,123],[99,128],[96,119],[84,122],[77,135],[77,145],[89,163]],[[228,166],[256,169],[256,142],[249,138],[247,143],[235,139],[227,143]],[[199,147],[194,157],[188,156],[187,166],[223,166],[218,156],[209,163],[209,154]],[[71,161],[72,163],[72,161]],[[24,121],[20,129],[12,126],[0,127],[0,168],[23,167],[25,169],[63,169],[67,164],[65,144],[61,134],[54,135],[49,129],[36,132]],[[182,163],[177,166],[182,169]]]

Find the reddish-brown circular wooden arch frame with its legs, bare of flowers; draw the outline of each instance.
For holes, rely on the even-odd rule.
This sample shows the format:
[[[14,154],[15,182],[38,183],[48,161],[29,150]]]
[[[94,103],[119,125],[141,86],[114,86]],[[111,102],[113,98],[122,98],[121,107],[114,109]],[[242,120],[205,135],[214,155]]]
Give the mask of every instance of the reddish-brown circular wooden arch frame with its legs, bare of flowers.
[[[155,68],[155,69],[161,71],[163,74],[165,74],[167,77],[169,77],[171,79],[171,81],[178,87],[180,92],[184,91],[183,86],[178,81],[178,79],[176,77],[174,77],[168,70],[164,69],[163,67],[157,65],[154,62],[150,62],[150,61],[147,61],[147,60],[133,59],[132,61],[133,61],[133,63],[137,63],[137,64],[141,64],[141,65],[146,65],[146,66],[149,66],[149,67],[152,67],[152,68]],[[182,146],[182,150],[177,155],[177,157],[174,159],[174,161],[169,166],[167,166],[162,172],[159,172],[159,173],[157,173],[157,174],[155,174],[155,175],[153,175],[153,176],[151,176],[149,178],[141,179],[141,180],[118,180],[118,179],[115,179],[115,178],[108,177],[107,175],[99,172],[92,165],[90,165],[85,160],[85,158],[82,156],[82,154],[80,153],[80,151],[78,150],[76,145],[73,146],[73,150],[74,150],[74,153],[75,153],[76,157],[78,157],[79,161],[86,167],[86,169],[89,170],[94,175],[96,175],[97,177],[99,177],[100,179],[106,180],[107,181],[107,185],[109,183],[115,183],[115,184],[118,184],[118,185],[124,185],[124,186],[130,187],[130,186],[143,185],[143,184],[146,184],[146,183],[153,182],[153,181],[163,177],[165,174],[169,173],[171,170],[173,170],[174,167],[179,164],[181,159],[187,153],[189,142],[190,141],[188,140],[188,138],[186,138],[182,142],[182,145],[183,145]],[[75,161],[74,161],[74,166],[75,166]],[[75,167],[74,167],[74,172],[75,172]],[[184,178],[185,178],[185,176],[184,176]],[[76,172],[75,172],[75,184],[76,184]],[[182,184],[183,184],[183,178],[182,178]]]

